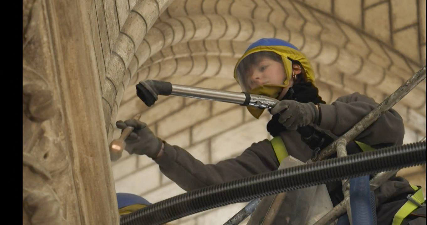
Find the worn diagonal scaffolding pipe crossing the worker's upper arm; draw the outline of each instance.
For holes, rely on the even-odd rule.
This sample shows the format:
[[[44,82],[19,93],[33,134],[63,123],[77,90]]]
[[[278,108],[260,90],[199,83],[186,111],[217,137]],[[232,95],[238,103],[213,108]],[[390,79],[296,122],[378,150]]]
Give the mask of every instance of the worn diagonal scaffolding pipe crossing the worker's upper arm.
[[[316,155],[312,160],[313,162],[328,158],[330,155],[336,152],[336,144],[339,140],[343,139],[347,143],[354,140],[357,135],[362,133],[367,127],[374,123],[384,112],[388,111],[397,102],[399,102],[405,95],[409,93],[415,86],[417,86],[422,80],[426,78],[426,67],[422,67],[418,70],[407,82],[400,86],[395,92],[388,96],[383,102],[381,102],[377,108],[372,110],[368,115],[363,117],[356,125],[353,126],[349,131],[339,137],[338,140],[331,143],[325,149]]]

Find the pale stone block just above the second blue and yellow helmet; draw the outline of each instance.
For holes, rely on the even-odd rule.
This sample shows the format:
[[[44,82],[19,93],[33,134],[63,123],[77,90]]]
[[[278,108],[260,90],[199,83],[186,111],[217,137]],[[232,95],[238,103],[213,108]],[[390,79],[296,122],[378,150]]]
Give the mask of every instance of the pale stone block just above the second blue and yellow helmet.
[[[149,182],[147,182],[149,181]],[[139,195],[158,187],[160,184],[160,171],[157,164],[138,170],[132,175],[115,181],[116,192],[132,193]]]

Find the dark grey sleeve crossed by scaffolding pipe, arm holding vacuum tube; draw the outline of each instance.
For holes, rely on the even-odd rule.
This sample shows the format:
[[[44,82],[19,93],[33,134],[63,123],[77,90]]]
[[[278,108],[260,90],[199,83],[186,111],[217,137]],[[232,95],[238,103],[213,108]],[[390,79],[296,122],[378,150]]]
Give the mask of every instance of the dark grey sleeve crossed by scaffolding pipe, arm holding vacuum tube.
[[[374,99],[356,92],[339,97],[330,105],[319,105],[322,111],[322,121],[319,127],[330,130],[336,136],[341,136],[376,108],[378,103]],[[355,140],[374,148],[401,145],[404,133],[402,117],[394,109],[389,109],[360,133]]]

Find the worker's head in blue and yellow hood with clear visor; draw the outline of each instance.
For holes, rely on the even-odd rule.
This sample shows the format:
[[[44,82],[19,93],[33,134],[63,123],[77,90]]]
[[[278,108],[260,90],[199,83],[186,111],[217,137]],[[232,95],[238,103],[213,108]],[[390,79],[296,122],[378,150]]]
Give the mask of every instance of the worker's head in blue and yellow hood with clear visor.
[[[298,82],[314,84],[313,69],[307,57],[289,42],[276,38],[263,38],[251,44],[237,61],[234,79],[242,91],[279,100]],[[248,109],[254,117],[262,113],[251,107]]]

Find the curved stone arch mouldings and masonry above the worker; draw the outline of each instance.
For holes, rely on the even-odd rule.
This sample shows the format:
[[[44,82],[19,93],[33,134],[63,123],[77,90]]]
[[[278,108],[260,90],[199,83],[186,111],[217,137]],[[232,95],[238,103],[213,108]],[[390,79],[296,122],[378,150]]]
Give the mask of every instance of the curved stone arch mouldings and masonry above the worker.
[[[355,91],[381,102],[425,64],[422,0],[94,4],[91,23],[99,40],[95,46],[102,46],[96,51],[109,138],[120,105],[120,119],[147,109],[143,104],[129,107],[140,102],[137,82],[182,76],[232,80],[235,62],[260,38],[281,38],[305,53],[327,102]],[[394,108],[407,128],[425,135],[425,81]]]

